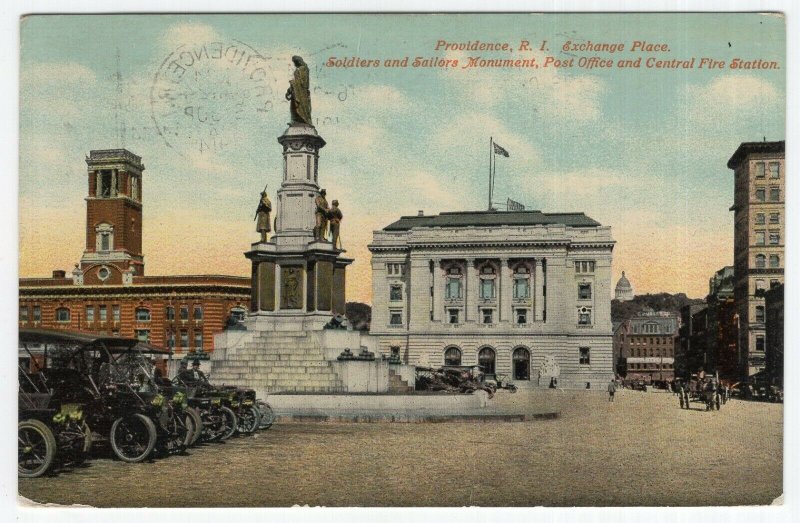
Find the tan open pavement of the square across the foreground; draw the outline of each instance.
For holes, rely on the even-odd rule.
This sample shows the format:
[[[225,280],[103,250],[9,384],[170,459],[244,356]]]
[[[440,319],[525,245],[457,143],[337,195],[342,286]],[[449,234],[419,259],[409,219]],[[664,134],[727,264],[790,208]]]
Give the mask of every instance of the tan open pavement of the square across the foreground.
[[[94,459],[20,480],[39,502],[102,507],[769,504],[782,491],[782,405],[681,410],[666,392],[495,396],[551,421],[307,423],[152,463]]]

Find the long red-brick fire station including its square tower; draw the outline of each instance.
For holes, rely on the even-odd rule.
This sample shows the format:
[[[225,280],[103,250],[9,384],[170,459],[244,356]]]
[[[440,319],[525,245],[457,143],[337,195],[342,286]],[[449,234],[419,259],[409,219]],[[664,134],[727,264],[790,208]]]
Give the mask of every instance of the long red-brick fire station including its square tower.
[[[250,306],[250,278],[145,276],[141,158],[91,151],[86,246],[72,274],[20,278],[20,328],[137,337],[177,353],[213,350],[214,334]]]

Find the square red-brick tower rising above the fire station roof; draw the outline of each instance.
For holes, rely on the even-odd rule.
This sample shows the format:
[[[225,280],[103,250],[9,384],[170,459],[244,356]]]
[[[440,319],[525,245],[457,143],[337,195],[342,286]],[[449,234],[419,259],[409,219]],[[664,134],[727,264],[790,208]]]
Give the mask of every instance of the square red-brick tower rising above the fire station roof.
[[[127,149],[104,149],[90,151],[86,165],[86,249],[73,280],[131,284],[134,276],[144,276],[142,159]]]

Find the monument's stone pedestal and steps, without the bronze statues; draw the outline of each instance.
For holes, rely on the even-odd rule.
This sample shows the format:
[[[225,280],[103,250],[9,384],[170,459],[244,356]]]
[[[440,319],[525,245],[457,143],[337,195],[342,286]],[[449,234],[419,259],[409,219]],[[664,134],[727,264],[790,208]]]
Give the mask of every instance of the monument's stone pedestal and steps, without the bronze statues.
[[[244,330],[215,338],[212,379],[261,394],[347,392],[334,364],[342,349],[323,328],[345,314],[345,271],[353,260],[314,235],[325,140],[314,127],[295,123],[278,142],[284,169],[274,235],[245,253],[252,264],[250,314]],[[347,348],[358,351],[359,333],[348,334],[355,346]]]

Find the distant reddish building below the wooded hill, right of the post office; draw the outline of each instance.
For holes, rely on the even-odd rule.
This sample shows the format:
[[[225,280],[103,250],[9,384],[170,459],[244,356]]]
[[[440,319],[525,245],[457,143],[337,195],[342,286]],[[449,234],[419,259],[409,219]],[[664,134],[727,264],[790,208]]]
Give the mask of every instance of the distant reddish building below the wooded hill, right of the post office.
[[[672,381],[675,378],[675,342],[678,316],[646,310],[623,321],[615,342],[626,363],[626,378]]]

